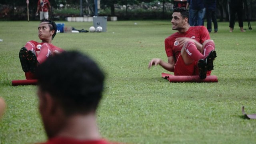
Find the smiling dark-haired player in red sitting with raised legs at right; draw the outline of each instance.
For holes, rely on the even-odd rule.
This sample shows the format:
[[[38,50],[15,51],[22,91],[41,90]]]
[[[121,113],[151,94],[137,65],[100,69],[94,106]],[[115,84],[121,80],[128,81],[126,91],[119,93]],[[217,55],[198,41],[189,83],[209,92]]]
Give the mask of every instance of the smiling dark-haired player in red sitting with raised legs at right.
[[[205,79],[213,70],[216,58],[214,41],[210,40],[204,26],[190,26],[189,13],[186,8],[175,8],[172,14],[172,30],[178,32],[165,39],[168,63],[160,58],[153,58],[148,68],[158,64],[177,76],[199,75]]]

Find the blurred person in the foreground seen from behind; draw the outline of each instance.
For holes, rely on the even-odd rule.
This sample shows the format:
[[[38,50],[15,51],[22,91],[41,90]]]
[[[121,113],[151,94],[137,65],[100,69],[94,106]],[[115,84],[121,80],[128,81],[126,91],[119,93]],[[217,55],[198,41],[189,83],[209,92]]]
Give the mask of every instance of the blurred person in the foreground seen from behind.
[[[38,66],[39,112],[48,141],[42,144],[112,144],[100,136],[96,109],[104,73],[79,52],[62,52]]]

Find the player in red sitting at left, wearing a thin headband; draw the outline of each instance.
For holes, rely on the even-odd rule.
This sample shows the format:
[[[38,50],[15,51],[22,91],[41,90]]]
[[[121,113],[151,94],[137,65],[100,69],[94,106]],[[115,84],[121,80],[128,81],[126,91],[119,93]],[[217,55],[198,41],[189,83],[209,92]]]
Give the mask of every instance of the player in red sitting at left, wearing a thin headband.
[[[20,63],[27,80],[36,79],[34,73],[38,64],[44,62],[50,55],[64,51],[51,44],[56,32],[57,26],[55,22],[46,19],[42,20],[38,26],[38,37],[42,42],[31,40],[20,49]]]

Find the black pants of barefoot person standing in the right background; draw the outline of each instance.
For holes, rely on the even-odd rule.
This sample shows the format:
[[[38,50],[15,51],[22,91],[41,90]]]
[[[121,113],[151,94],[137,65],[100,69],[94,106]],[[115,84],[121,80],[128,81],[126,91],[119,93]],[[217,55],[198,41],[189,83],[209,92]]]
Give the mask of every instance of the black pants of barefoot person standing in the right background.
[[[244,27],[243,24],[243,8],[232,8],[230,7],[230,22],[229,27],[234,29],[235,21],[236,21],[236,14],[238,16],[238,25],[239,27]]]

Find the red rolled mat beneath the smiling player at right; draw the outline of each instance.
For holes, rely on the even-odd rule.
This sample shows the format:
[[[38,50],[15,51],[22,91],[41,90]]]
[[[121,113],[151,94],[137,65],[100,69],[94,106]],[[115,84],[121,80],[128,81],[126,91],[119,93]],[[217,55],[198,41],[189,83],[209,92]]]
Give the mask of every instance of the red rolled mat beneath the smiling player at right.
[[[162,73],[162,77],[170,82],[218,82],[217,76],[206,76],[205,79],[200,79],[199,76],[174,76]]]

